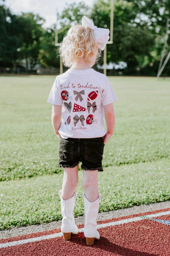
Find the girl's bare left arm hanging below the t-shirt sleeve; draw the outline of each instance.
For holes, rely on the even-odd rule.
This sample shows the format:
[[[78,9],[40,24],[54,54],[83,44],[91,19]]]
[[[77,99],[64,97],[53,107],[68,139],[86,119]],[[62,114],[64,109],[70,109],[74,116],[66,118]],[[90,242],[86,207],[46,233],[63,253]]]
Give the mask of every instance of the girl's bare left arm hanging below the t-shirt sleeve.
[[[54,128],[55,134],[59,139],[61,139],[61,136],[58,132],[59,127],[61,125],[61,115],[62,115],[61,110],[62,110],[62,106],[52,105],[52,115],[51,115],[52,126]]]

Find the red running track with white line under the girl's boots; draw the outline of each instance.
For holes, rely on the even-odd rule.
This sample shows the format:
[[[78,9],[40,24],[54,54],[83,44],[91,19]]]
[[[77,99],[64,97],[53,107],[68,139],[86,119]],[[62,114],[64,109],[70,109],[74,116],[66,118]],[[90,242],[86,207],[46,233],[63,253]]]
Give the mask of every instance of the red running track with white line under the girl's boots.
[[[170,256],[170,208],[97,222],[100,240],[86,245],[80,233],[63,240],[49,230],[0,240],[1,256]]]

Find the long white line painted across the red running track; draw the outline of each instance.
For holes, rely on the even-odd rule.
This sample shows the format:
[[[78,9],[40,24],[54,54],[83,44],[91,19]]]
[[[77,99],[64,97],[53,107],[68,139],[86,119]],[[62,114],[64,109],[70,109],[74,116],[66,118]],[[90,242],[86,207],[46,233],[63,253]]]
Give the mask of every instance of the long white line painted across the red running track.
[[[135,217],[135,218],[129,218],[129,219],[124,219],[124,220],[118,220],[118,221],[114,221],[114,222],[99,224],[99,225],[97,225],[97,229],[110,227],[110,226],[114,226],[114,225],[125,224],[125,223],[129,223],[129,222],[135,222],[135,221],[144,220],[144,219],[150,219],[150,218],[154,218],[154,217],[160,217],[160,216],[164,216],[164,215],[168,215],[168,214],[170,214],[170,211],[159,212],[159,213],[155,213],[155,214],[143,215],[143,216],[139,216],[139,217]],[[79,228],[79,232],[83,232],[83,231],[84,231],[84,228]],[[35,238],[23,239],[23,240],[19,240],[19,241],[0,243],[0,248],[22,245],[24,243],[33,243],[36,241],[48,240],[51,238],[61,237],[62,235],[63,235],[63,233],[60,232],[60,233],[55,233],[55,234],[46,235],[46,236],[39,236],[39,237],[35,237]]]

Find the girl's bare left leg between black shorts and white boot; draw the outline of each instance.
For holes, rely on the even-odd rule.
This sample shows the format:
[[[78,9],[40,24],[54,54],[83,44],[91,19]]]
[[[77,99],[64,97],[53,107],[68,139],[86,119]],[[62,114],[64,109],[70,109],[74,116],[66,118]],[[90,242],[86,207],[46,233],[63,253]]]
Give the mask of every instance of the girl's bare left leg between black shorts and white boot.
[[[64,168],[61,196],[64,200],[73,197],[78,185],[78,165],[74,168]]]

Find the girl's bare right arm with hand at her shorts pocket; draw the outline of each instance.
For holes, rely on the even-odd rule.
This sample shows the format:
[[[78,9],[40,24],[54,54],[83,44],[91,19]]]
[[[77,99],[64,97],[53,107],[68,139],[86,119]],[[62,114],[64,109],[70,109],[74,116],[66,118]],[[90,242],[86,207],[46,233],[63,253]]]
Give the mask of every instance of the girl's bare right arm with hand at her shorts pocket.
[[[105,113],[105,121],[107,126],[107,131],[104,137],[104,144],[110,139],[112,134],[114,133],[114,123],[115,123],[115,115],[113,104],[105,105],[104,106],[104,113]]]

